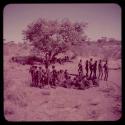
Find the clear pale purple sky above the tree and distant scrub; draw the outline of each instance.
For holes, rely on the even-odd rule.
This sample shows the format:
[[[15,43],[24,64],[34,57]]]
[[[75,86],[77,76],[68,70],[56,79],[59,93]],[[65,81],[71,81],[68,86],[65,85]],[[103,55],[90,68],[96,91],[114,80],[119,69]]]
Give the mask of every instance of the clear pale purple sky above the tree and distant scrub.
[[[3,10],[5,42],[23,42],[22,31],[39,18],[88,23],[85,34],[92,41],[101,37],[121,40],[121,8],[117,4],[8,4]]]

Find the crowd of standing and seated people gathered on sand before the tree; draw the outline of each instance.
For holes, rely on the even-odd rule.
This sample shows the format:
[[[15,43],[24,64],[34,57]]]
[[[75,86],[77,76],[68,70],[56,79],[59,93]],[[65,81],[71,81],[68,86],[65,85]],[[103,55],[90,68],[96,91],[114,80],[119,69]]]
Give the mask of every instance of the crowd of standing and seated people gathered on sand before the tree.
[[[92,58],[86,60],[85,70],[86,74],[84,75],[82,60],[78,63],[78,74],[69,74],[67,69],[57,71],[55,66],[52,66],[52,71],[50,71],[32,65],[29,70],[32,78],[31,86],[43,88],[45,85],[50,85],[52,88],[62,86],[65,88],[85,89],[90,87],[90,83],[98,86],[98,80],[102,80],[103,74],[104,80],[107,81],[108,79],[107,60],[104,65],[102,65],[102,60],[99,60],[98,65],[97,60],[94,62]],[[72,78],[71,75],[74,77]]]

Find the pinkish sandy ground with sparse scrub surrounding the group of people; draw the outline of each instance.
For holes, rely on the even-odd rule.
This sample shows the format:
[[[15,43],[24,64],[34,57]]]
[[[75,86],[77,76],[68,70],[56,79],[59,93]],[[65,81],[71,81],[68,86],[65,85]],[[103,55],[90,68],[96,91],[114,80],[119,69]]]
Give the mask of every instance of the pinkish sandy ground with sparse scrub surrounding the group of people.
[[[57,69],[77,72],[76,63]],[[8,121],[114,121],[121,117],[121,69],[86,90],[29,87],[29,66],[4,60],[4,116]]]

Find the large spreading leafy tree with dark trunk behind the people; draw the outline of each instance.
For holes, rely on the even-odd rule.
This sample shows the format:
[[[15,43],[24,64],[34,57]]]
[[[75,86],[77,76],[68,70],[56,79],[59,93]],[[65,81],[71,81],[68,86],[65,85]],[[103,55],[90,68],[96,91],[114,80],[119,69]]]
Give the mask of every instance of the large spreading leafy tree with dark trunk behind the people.
[[[38,19],[23,31],[25,41],[33,46],[32,54],[42,57],[46,70],[60,53],[65,53],[71,46],[86,38],[86,23],[72,23],[68,19]]]

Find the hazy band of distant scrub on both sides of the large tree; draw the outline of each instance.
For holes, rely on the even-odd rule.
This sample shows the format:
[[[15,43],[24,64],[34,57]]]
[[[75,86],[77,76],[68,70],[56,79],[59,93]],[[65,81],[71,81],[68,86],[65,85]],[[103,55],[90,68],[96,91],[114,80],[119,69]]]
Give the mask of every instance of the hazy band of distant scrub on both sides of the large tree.
[[[30,46],[30,44],[26,43],[21,43],[21,44],[17,44],[14,42],[4,43],[4,55],[5,56],[11,55],[11,58],[20,56],[31,58],[32,57],[30,55],[31,48],[32,47]],[[95,57],[109,58],[109,59],[121,59],[120,41],[112,41],[112,42],[86,41],[82,43],[81,46],[75,45],[70,49],[74,53],[74,55],[72,57],[70,55],[68,56],[72,59],[75,59],[76,56],[83,56],[83,57],[95,56]],[[27,63],[30,64],[30,61]]]

